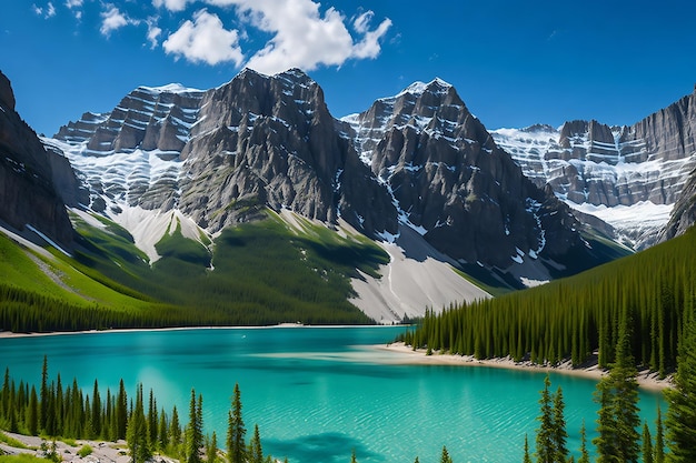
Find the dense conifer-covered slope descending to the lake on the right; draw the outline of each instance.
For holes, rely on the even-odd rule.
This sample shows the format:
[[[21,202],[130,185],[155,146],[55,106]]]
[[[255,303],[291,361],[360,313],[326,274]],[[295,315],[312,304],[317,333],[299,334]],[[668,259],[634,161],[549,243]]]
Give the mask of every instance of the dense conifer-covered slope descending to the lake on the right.
[[[576,276],[461,304],[422,323],[404,341],[478,359],[574,365],[598,350],[614,360],[619,314],[633,320],[636,361],[665,374],[676,364],[684,313],[696,304],[696,230]]]

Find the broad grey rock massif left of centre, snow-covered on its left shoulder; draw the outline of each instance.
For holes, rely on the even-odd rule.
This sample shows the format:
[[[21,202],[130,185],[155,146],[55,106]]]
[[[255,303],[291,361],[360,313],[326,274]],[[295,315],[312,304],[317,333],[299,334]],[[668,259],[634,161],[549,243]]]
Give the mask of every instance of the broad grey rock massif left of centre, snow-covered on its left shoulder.
[[[115,215],[179,209],[215,233],[268,205],[327,223],[342,217],[372,236],[397,230],[386,189],[298,70],[246,70],[206,92],[141,87],[112,112],[62,127],[53,144],[84,174],[90,207]]]

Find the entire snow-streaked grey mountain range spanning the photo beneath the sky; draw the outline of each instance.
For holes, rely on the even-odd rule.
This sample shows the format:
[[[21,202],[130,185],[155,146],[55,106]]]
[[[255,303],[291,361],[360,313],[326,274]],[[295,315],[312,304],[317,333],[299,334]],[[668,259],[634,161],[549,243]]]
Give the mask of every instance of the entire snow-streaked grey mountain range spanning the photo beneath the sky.
[[[318,227],[381,250],[375,271],[345,276],[352,304],[385,322],[577,273],[696,215],[695,94],[632,127],[488,131],[439,79],[337,119],[302,71],[245,70],[206,91],[140,87],[41,140],[4,77],[0,98],[11,178],[0,219],[12,230],[29,224],[70,254],[86,229],[111,223],[150,268],[177,235],[210,274],[226,231],[271,218],[294,242],[324,236]]]

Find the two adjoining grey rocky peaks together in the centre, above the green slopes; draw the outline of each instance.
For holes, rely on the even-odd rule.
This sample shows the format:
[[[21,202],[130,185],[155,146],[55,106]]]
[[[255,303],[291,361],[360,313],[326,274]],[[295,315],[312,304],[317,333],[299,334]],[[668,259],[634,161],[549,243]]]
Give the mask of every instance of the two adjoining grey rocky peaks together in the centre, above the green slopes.
[[[246,70],[208,91],[141,87],[47,142],[117,222],[128,208],[176,210],[212,234],[269,207],[389,242],[409,227],[454,261],[503,271],[586,249],[568,207],[440,80],[337,120],[304,72]]]

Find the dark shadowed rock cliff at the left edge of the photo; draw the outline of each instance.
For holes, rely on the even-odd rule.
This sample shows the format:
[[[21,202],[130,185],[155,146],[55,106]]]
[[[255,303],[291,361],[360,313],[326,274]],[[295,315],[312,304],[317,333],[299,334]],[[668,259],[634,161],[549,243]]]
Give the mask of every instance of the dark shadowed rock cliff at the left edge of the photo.
[[[73,231],[63,201],[77,201],[76,185],[69,162],[47,152],[16,112],[10,81],[0,72],[0,220],[20,231],[32,227],[69,246]]]

